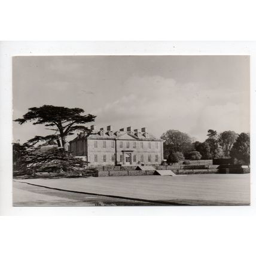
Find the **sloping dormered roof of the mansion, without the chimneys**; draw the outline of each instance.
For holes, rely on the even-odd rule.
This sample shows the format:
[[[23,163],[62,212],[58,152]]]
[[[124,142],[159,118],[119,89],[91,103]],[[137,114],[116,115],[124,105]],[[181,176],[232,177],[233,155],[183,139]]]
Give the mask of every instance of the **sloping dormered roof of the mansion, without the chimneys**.
[[[77,141],[79,139],[122,139],[122,140],[135,140],[135,141],[163,141],[162,139],[157,139],[154,137],[151,133],[147,133],[147,137],[144,136],[144,133],[141,133],[140,136],[138,136],[138,133],[136,132],[123,132],[123,131],[117,131],[112,132],[112,136],[109,134],[109,131],[103,131],[103,135],[100,135],[99,132],[94,133],[80,133],[77,138],[73,139],[72,141]],[[71,141],[71,142],[72,142]]]

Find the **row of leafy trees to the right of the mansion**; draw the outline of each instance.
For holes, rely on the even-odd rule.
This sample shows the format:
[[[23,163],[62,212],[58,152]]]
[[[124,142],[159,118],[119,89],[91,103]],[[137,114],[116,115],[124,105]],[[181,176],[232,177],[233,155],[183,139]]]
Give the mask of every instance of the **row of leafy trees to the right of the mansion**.
[[[208,130],[208,138],[204,142],[193,142],[187,133],[179,130],[167,130],[161,139],[164,140],[164,158],[167,163],[176,163],[181,160],[208,160],[234,158],[236,163],[249,164],[250,136],[249,133],[237,134],[227,130],[218,133]]]

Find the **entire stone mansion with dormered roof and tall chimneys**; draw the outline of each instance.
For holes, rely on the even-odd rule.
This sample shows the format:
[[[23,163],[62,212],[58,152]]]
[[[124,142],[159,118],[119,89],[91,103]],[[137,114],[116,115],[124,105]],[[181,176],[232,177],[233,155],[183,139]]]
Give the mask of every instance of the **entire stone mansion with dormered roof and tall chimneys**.
[[[89,165],[154,164],[163,162],[163,140],[147,132],[132,130],[132,127],[112,130],[111,126],[80,133],[69,142],[74,156],[83,157]]]

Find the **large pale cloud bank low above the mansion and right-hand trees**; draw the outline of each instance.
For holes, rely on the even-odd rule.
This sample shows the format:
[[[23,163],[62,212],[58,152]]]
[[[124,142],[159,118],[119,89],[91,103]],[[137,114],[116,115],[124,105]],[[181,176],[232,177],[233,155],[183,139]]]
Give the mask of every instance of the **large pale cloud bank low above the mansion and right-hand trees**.
[[[97,122],[123,126],[148,126],[155,135],[179,129],[205,139],[208,129],[248,127],[248,106],[243,92],[209,89],[202,83],[177,83],[160,76],[131,77],[122,87],[122,96],[94,113]],[[243,125],[240,125],[243,118]]]

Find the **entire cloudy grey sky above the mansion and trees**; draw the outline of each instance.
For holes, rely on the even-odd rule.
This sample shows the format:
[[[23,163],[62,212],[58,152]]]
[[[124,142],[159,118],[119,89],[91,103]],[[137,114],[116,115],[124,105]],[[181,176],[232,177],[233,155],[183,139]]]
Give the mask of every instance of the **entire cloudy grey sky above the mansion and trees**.
[[[42,105],[83,108],[97,116],[88,126],[147,127],[156,137],[249,132],[249,56],[13,57],[13,119]],[[14,142],[48,134],[13,122]]]

